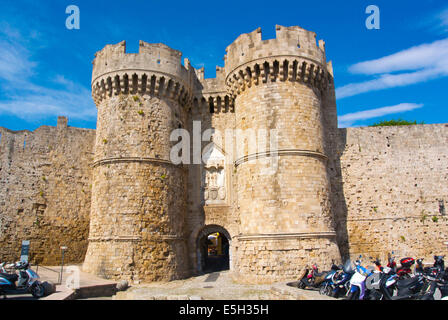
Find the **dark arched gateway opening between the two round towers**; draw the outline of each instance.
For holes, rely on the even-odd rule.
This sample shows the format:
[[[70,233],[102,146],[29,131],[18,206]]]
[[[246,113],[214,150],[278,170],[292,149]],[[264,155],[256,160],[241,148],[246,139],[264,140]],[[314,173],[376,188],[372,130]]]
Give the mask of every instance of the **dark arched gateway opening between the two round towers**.
[[[230,234],[221,226],[205,226],[197,237],[198,271],[228,270],[230,267]]]

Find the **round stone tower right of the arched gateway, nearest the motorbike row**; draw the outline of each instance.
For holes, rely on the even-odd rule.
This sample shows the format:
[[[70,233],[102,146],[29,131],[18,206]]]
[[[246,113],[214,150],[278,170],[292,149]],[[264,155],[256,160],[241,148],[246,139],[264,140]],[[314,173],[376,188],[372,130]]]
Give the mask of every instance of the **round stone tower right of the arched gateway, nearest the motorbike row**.
[[[340,260],[322,108],[332,78],[315,36],[276,26],[275,39],[262,40],[257,29],[226,49],[225,82],[241,130],[237,149],[245,145],[235,157],[241,226],[234,257],[245,281],[291,279],[306,264],[322,269]],[[251,131],[256,144],[239,139],[250,139]]]

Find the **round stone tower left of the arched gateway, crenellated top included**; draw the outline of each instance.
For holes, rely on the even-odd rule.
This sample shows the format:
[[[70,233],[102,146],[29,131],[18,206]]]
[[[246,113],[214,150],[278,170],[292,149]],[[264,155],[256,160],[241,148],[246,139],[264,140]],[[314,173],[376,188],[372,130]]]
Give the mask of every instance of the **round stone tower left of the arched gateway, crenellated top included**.
[[[98,108],[89,245],[83,270],[106,278],[187,275],[187,171],[170,161],[172,130],[186,124],[194,70],[181,53],[140,41],[95,55]]]

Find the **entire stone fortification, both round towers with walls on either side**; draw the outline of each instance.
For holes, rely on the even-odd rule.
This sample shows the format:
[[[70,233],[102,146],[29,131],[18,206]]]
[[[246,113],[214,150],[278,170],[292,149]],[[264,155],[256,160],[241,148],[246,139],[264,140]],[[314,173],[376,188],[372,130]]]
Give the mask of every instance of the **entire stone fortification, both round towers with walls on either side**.
[[[107,45],[92,74],[96,131],[64,118],[0,128],[0,259],[28,239],[35,262],[58,264],[67,245],[88,272],[166,281],[201,273],[200,240],[220,232],[234,279],[255,283],[341,254],[447,253],[448,125],[338,129],[324,42],[299,27],[270,40],[257,29],[226,52],[205,79],[166,45]],[[194,133],[213,129],[199,137],[205,161],[171,162],[174,129],[190,134],[190,163]],[[277,144],[250,130],[277,130]]]

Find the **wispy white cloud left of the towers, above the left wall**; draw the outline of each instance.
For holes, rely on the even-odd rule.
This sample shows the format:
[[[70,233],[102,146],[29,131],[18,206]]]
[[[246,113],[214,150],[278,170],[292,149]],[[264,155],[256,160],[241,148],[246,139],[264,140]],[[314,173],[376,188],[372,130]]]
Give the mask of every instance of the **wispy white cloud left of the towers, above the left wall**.
[[[90,89],[63,75],[37,74],[39,62],[22,40],[18,30],[8,27],[0,31],[0,114],[27,121],[58,115],[94,120],[96,108]],[[36,79],[49,80],[54,86],[43,86]]]

